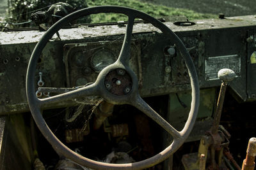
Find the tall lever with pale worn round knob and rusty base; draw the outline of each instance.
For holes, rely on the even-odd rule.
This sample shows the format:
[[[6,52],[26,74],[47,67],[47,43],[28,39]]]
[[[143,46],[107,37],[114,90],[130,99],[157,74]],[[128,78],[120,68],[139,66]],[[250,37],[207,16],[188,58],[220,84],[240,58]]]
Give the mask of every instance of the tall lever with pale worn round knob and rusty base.
[[[195,159],[195,154],[188,154],[182,157],[182,163],[184,164],[185,169],[198,169],[198,167],[199,169],[205,169],[208,152],[210,153],[209,168],[218,169],[224,166],[222,161],[223,150],[224,147],[227,147],[229,144],[228,139],[230,138],[230,134],[224,129],[223,126],[220,126],[220,118],[227,83],[236,77],[236,73],[234,73],[234,71],[231,69],[220,69],[220,71],[218,71],[218,77],[222,83],[211,131],[208,131],[207,134],[201,139],[197,159]],[[204,159],[202,157],[204,157]]]

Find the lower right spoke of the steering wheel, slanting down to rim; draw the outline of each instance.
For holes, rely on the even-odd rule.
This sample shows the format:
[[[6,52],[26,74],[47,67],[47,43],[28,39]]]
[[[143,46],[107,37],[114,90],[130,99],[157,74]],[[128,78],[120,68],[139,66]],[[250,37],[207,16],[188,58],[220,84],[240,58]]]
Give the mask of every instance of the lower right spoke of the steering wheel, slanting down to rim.
[[[172,125],[170,125],[166,120],[164,120],[164,118],[154,111],[140,96],[136,97],[132,105],[145,113],[148,117],[152,118],[152,120],[170,133],[173,138],[181,138],[180,132],[172,127]]]

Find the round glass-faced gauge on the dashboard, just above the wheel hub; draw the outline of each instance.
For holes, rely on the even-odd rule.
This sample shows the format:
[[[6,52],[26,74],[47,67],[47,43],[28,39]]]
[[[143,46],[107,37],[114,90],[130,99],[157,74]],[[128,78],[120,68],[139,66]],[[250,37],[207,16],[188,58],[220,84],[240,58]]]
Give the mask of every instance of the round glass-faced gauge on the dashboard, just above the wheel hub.
[[[115,62],[115,56],[109,50],[99,50],[93,53],[92,56],[92,67],[94,71],[99,72],[104,67],[109,66]]]

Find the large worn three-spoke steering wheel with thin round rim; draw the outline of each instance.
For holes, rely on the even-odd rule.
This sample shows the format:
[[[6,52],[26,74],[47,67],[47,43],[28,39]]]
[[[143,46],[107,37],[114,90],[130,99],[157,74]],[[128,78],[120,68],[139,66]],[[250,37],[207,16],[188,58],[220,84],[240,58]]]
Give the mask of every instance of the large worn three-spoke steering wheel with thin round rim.
[[[97,80],[92,84],[81,89],[73,90],[64,94],[48,97],[45,99],[38,99],[35,95],[35,70],[38,57],[42,53],[43,48],[52,36],[61,29],[64,25],[67,25],[72,20],[76,20],[79,17],[97,13],[122,13],[127,15],[128,24],[125,32],[124,43],[120,51],[120,55],[115,63],[105,67],[100,71]],[[186,66],[188,68],[190,80],[191,80],[191,110],[189,111],[188,120],[182,129],[177,131],[172,125],[170,125],[164,118],[156,113],[147,103],[141,98],[138,90],[138,78],[136,74],[129,67],[129,58],[131,55],[131,36],[132,27],[134,25],[134,18],[141,18],[150,24],[160,29],[164,36],[173,39],[173,42],[177,46],[177,49],[182,54]],[[116,81],[113,83],[113,78]],[[196,74],[196,69],[191,60],[191,57],[186,50],[186,47],[180,41],[180,39],[173,33],[166,25],[161,23],[154,17],[147,15],[138,10],[131,8],[125,8],[122,6],[95,6],[92,8],[84,8],[83,10],[75,11],[64,18],[61,18],[56,24],[52,25],[47,32],[38,41],[28,64],[28,71],[26,76],[26,94],[28,98],[29,108],[31,114],[36,122],[36,125],[44,135],[44,137],[51,143],[52,147],[61,153],[65,157],[85,167],[92,169],[144,169],[154,166],[159,162],[167,159],[172,155],[188,138],[193,125],[195,124],[198,106],[199,106],[199,85]],[[56,138],[51,129],[47,126],[44,118],[42,117],[41,110],[47,104],[61,103],[64,101],[70,101],[84,96],[100,96],[108,103],[112,104],[130,104],[138,110],[145,113],[148,117],[152,118],[163,129],[169,132],[173,136],[172,143],[165,148],[162,152],[154,155],[140,162],[133,162],[129,164],[108,164],[104,162],[97,162],[95,160],[88,159],[79,155],[78,153],[70,150],[61,141]]]

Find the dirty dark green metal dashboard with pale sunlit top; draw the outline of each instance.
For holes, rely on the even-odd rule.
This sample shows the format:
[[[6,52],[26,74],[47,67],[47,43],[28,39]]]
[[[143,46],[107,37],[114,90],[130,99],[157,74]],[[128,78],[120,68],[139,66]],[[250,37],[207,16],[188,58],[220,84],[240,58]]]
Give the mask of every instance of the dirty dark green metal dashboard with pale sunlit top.
[[[255,16],[198,20],[179,26],[165,21],[188,49],[198,73],[200,89],[219,87],[218,70],[235,71],[230,83],[237,99],[255,101]],[[132,32],[129,65],[139,80],[142,97],[190,90],[186,64],[172,39],[153,25],[136,22]],[[52,87],[38,97],[72,90],[94,82],[104,67],[117,59],[124,39],[124,24],[74,25],[59,31],[45,46],[36,66],[36,88]],[[44,34],[37,29],[0,32],[0,114],[29,111],[26,102],[26,69],[36,42]],[[254,55],[253,55],[254,54]],[[254,58],[253,58],[254,56]],[[254,85],[253,85],[254,84]],[[70,103],[69,103],[70,104]],[[58,107],[68,106],[65,103]]]

